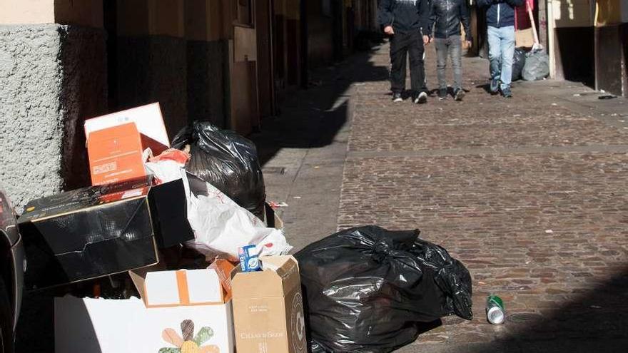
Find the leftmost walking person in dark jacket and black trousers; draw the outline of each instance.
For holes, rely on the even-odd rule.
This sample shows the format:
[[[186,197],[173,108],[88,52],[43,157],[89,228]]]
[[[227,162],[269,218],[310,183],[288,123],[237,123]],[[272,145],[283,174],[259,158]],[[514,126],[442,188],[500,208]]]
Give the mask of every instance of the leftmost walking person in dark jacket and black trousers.
[[[406,56],[410,56],[412,101],[427,102],[423,53],[430,37],[422,34],[430,16],[428,0],[381,0],[378,21],[390,36],[390,86],[393,101],[402,101],[405,89]]]

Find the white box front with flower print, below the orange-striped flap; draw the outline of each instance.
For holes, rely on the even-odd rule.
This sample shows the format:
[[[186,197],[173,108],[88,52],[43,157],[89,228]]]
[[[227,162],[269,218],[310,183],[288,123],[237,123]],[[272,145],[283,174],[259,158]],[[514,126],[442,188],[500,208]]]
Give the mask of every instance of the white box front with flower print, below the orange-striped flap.
[[[206,347],[187,352],[233,353],[231,301],[147,309],[138,298],[58,297],[54,312],[56,353],[159,353],[163,348],[170,353],[182,352],[180,344]],[[200,345],[190,342],[195,338],[201,338]]]

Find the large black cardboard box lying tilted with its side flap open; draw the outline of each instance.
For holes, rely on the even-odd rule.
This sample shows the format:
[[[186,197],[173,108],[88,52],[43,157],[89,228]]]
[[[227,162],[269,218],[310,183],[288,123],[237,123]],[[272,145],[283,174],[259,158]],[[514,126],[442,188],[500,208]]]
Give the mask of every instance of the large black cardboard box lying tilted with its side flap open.
[[[158,262],[158,247],[191,240],[181,180],[132,180],[31,201],[19,218],[26,289],[90,280]]]

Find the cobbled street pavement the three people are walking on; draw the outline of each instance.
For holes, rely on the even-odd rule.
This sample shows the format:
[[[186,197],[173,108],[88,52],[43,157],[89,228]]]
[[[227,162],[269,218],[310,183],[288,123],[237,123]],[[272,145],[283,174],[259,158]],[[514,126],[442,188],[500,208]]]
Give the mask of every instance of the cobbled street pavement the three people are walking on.
[[[435,53],[427,73],[435,88]],[[388,95],[388,47],[315,72],[254,136],[297,248],[338,228],[422,230],[473,277],[475,318],[400,352],[628,351],[628,103],[579,83],[490,96],[465,58],[464,102]],[[485,298],[510,317],[487,324]]]

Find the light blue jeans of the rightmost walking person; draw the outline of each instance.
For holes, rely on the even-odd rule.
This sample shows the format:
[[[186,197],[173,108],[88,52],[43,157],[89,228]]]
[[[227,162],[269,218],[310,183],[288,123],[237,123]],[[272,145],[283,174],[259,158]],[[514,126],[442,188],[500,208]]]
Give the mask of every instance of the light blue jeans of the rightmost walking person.
[[[488,59],[493,80],[502,81],[502,90],[510,88],[512,58],[515,56],[515,26],[488,27]]]

